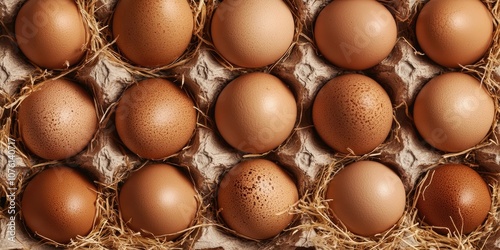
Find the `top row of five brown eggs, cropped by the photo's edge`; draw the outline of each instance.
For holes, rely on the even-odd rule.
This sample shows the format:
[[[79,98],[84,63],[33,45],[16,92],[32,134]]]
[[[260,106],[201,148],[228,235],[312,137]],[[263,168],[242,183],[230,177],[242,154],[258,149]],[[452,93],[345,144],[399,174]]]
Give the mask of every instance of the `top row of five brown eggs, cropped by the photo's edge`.
[[[160,67],[188,48],[194,30],[187,0],[120,0],[111,29],[118,50],[130,62]],[[292,45],[294,15],[281,0],[227,0],[211,19],[210,37],[218,54],[233,65],[259,68],[275,63]],[[78,63],[89,44],[89,27],[72,0],[29,0],[15,23],[18,45],[36,65],[63,69]],[[380,63],[397,40],[392,14],[377,1],[336,0],[317,16],[314,39],[331,63],[364,70]],[[416,36],[435,62],[457,68],[480,60],[493,39],[493,19],[479,0],[431,1],[421,10]]]

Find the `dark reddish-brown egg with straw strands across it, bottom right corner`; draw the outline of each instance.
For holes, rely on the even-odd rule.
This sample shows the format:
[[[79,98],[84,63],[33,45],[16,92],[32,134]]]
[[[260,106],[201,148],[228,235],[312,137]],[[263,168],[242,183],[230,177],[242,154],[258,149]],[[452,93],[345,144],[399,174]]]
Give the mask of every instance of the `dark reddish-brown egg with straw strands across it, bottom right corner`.
[[[488,216],[488,184],[468,166],[446,164],[430,170],[417,194],[420,218],[441,234],[468,234]]]

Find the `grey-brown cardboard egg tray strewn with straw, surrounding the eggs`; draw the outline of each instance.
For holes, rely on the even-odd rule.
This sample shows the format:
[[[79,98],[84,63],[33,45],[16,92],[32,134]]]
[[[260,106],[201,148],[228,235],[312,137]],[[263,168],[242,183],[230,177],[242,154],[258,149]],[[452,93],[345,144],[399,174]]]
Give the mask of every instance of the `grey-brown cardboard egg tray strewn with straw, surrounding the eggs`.
[[[0,2],[0,249],[51,249],[54,244],[30,235],[20,219],[20,197],[31,176],[55,164],[78,166],[93,176],[99,190],[94,230],[64,248],[92,249],[500,249],[500,112],[488,138],[477,147],[456,154],[433,149],[416,132],[412,105],[418,91],[431,78],[448,71],[463,71],[478,79],[500,101],[500,4],[483,0],[495,20],[494,45],[483,60],[462,69],[443,68],[429,60],[419,49],[414,36],[415,19],[424,2],[383,0],[398,24],[398,42],[379,65],[357,73],[380,83],[393,104],[393,130],[384,144],[363,156],[336,154],[314,130],[311,106],[315,95],[328,80],[347,71],[328,63],[317,51],[312,27],[319,11],[329,0],[289,0],[296,18],[296,39],[289,53],[278,63],[261,69],[235,68],[214,51],[209,36],[210,17],[218,1],[192,1],[196,28],[192,44],[175,64],[159,69],[130,65],[117,52],[110,36],[109,21],[116,0],[77,1],[92,32],[85,60],[63,71],[47,71],[30,64],[13,39],[13,24],[23,0]],[[289,85],[295,94],[300,114],[293,134],[279,148],[263,155],[245,155],[231,148],[219,135],[213,109],[218,94],[232,79],[252,71],[269,72]],[[100,127],[87,149],[69,159],[48,162],[30,154],[19,140],[16,109],[34,84],[67,77],[84,85],[96,102]],[[114,109],[123,91],[139,80],[165,77],[182,86],[196,102],[198,125],[190,143],[165,162],[187,168],[200,194],[196,225],[174,242],[162,242],[134,234],[120,220],[116,194],[120,183],[133,169],[149,161],[140,159],[121,143],[114,128]],[[15,143],[14,143],[15,140]],[[13,150],[10,150],[13,149]],[[265,158],[292,173],[300,194],[294,207],[297,220],[275,238],[254,241],[237,236],[224,226],[215,204],[221,176],[245,158]],[[406,211],[387,232],[361,237],[329,221],[325,187],[345,164],[361,159],[382,162],[394,169],[407,192]],[[7,165],[15,162],[16,178],[9,182]],[[473,167],[490,185],[493,204],[485,223],[468,235],[440,235],[425,226],[416,215],[413,197],[425,172],[437,164],[454,162]],[[13,188],[15,191],[12,191]],[[12,192],[11,192],[12,191]],[[9,196],[11,193],[14,196]],[[13,197],[16,220],[12,230],[9,209]],[[14,232],[14,233],[13,233]],[[10,235],[14,234],[14,240]]]

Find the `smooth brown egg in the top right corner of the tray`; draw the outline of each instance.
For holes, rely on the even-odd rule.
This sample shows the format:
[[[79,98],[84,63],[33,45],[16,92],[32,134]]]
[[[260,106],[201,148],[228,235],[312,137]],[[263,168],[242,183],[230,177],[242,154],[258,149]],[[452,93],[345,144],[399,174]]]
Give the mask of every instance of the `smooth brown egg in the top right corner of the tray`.
[[[456,68],[477,62],[493,41],[493,19],[479,0],[439,0],[417,19],[418,43],[433,61]]]

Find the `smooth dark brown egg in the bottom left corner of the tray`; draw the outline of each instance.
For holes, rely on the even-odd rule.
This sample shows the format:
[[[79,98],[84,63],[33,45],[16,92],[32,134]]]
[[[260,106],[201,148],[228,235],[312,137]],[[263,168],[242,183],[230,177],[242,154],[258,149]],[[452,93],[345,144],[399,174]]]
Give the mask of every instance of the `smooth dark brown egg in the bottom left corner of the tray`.
[[[78,170],[50,167],[28,182],[21,201],[26,226],[36,235],[66,244],[87,236],[96,217],[96,187]]]

